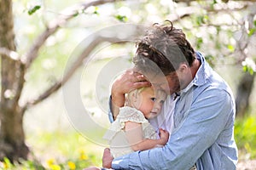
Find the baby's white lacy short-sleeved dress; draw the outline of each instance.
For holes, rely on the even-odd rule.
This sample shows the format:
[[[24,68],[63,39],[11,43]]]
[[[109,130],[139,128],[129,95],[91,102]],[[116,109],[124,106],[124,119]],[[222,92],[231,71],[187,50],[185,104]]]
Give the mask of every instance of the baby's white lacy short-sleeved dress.
[[[110,151],[114,158],[133,152],[124,131],[125,122],[128,121],[142,123],[143,139],[158,139],[154,127],[149,124],[141,111],[128,106],[121,107],[119,115],[103,137],[103,139],[108,139]]]

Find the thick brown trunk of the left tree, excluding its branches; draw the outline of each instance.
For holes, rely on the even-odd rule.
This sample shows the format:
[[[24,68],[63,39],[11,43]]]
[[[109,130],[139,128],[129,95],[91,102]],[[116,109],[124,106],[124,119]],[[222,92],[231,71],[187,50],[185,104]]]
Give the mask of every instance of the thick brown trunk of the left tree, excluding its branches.
[[[14,20],[11,0],[0,0],[0,47],[15,51]],[[9,56],[1,56],[0,159],[27,158],[28,147],[22,125],[24,111],[19,99],[24,84],[25,66]]]

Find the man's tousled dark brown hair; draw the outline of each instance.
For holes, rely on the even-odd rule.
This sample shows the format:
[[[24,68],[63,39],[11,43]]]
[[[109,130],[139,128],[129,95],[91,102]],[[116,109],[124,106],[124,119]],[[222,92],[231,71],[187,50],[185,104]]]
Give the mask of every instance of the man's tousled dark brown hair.
[[[138,70],[156,74],[162,71],[166,76],[177,71],[182,63],[192,65],[195,50],[183,31],[173,27],[171,21],[168,22],[168,25],[154,24],[137,42],[137,53],[133,62]]]

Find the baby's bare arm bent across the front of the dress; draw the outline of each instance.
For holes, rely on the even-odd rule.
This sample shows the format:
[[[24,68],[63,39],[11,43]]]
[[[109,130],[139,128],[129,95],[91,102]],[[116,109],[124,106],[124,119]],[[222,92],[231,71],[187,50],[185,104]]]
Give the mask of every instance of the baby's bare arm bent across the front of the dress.
[[[143,127],[141,123],[125,122],[125,136],[131,145],[131,149],[149,150],[156,145],[165,145],[169,139],[169,133],[160,129],[160,139],[143,139]]]

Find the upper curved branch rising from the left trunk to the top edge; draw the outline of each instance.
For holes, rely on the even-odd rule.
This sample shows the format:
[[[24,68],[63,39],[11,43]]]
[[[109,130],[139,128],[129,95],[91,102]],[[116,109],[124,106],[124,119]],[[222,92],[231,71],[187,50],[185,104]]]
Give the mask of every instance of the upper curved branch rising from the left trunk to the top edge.
[[[55,33],[61,26],[67,23],[68,20],[72,19],[76,14],[79,14],[80,10],[84,10],[90,6],[101,5],[104,3],[113,3],[118,0],[95,0],[92,2],[80,3],[71,8],[65,9],[55,20],[49,23],[46,30],[38,36],[38,38],[33,43],[32,47],[26,53],[26,68],[29,68],[32,61],[38,57],[39,48],[41,48],[44,42],[49,36]]]

